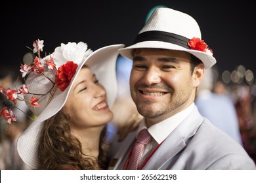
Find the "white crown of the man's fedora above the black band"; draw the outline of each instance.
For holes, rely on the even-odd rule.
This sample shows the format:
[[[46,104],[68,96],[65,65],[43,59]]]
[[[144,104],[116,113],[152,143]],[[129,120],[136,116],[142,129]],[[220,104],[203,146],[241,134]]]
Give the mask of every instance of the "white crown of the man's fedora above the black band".
[[[190,15],[171,8],[156,8],[139,33],[164,31],[175,33],[188,39],[198,37],[201,31],[198,23]]]

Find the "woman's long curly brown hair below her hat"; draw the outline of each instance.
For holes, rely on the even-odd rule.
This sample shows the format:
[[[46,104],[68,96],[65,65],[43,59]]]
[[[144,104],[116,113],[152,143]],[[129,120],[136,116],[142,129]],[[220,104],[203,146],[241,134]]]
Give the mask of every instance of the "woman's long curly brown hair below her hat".
[[[83,154],[81,142],[71,133],[70,116],[60,110],[45,121],[38,147],[38,169],[104,169],[106,153],[101,146],[106,127],[100,135],[98,159]]]

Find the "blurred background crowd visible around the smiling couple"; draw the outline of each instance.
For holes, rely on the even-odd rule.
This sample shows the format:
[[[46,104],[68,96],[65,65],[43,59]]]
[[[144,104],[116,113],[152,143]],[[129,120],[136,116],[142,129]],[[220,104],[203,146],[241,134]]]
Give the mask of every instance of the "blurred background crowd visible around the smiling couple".
[[[129,93],[130,71],[131,61],[119,56],[117,58],[117,81],[119,87],[117,101],[119,101],[120,105],[122,105],[122,101],[125,101],[125,98],[130,99],[131,97]],[[24,81],[20,79],[21,77],[17,79],[18,75],[20,73],[15,73],[10,68],[1,65],[0,86],[11,89],[19,88]],[[209,86],[208,88],[205,86],[209,91],[202,92],[198,88],[198,95],[195,101],[199,110],[203,108],[204,111],[200,111],[202,115],[210,118],[212,122],[215,122],[215,120],[219,122],[219,124],[215,125],[223,129],[226,133],[230,133],[230,136],[236,133],[234,131],[231,132],[232,129],[237,129],[234,139],[244,146],[249,156],[256,162],[256,80],[253,72],[246,69],[243,65],[238,65],[234,71],[224,71],[223,73],[219,73],[217,67],[213,67],[211,75],[207,75],[207,72],[205,72],[205,81],[202,82],[202,88],[203,84]],[[205,93],[208,94],[205,95]],[[208,100],[209,93],[214,95],[213,101]],[[3,95],[0,97],[0,107],[3,105],[12,105],[5,103]],[[221,101],[222,103],[218,104],[217,101]],[[232,106],[229,112],[227,105],[224,105],[226,101],[230,101]],[[16,140],[20,133],[33,122],[32,119],[34,116],[26,108],[26,104],[23,101],[18,102],[18,108],[20,110],[15,109],[14,111],[18,117],[16,123],[7,125],[5,120],[0,118],[0,169],[29,169],[18,156]],[[207,109],[208,107],[209,109]],[[232,108],[234,108],[233,113],[235,117],[232,116]],[[112,123],[108,127],[109,131],[115,133],[116,130]],[[111,141],[111,135],[114,134],[108,136],[108,141]]]

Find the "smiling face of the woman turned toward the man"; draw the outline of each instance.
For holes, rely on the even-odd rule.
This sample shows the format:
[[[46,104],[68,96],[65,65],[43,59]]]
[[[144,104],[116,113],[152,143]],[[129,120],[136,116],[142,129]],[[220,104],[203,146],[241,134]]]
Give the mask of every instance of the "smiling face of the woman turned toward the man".
[[[72,118],[72,127],[83,129],[105,125],[113,118],[106,90],[88,67],[83,67],[68,95],[64,110]]]

